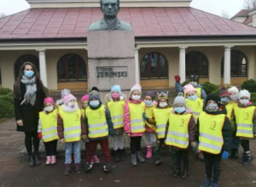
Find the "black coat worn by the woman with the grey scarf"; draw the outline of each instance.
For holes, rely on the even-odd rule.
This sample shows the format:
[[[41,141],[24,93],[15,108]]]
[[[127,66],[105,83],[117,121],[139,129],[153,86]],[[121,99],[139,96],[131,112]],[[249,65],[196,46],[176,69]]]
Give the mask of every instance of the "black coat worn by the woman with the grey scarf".
[[[38,88],[38,87],[37,87]],[[37,132],[38,131],[38,117],[39,112],[44,108],[44,98],[46,97],[44,91],[38,88],[36,94],[35,105],[23,103],[20,105],[24,99],[26,93],[26,85],[20,82],[20,93],[21,99],[15,99],[15,119],[16,121],[22,120],[23,127],[17,125],[17,131],[20,132]]]

